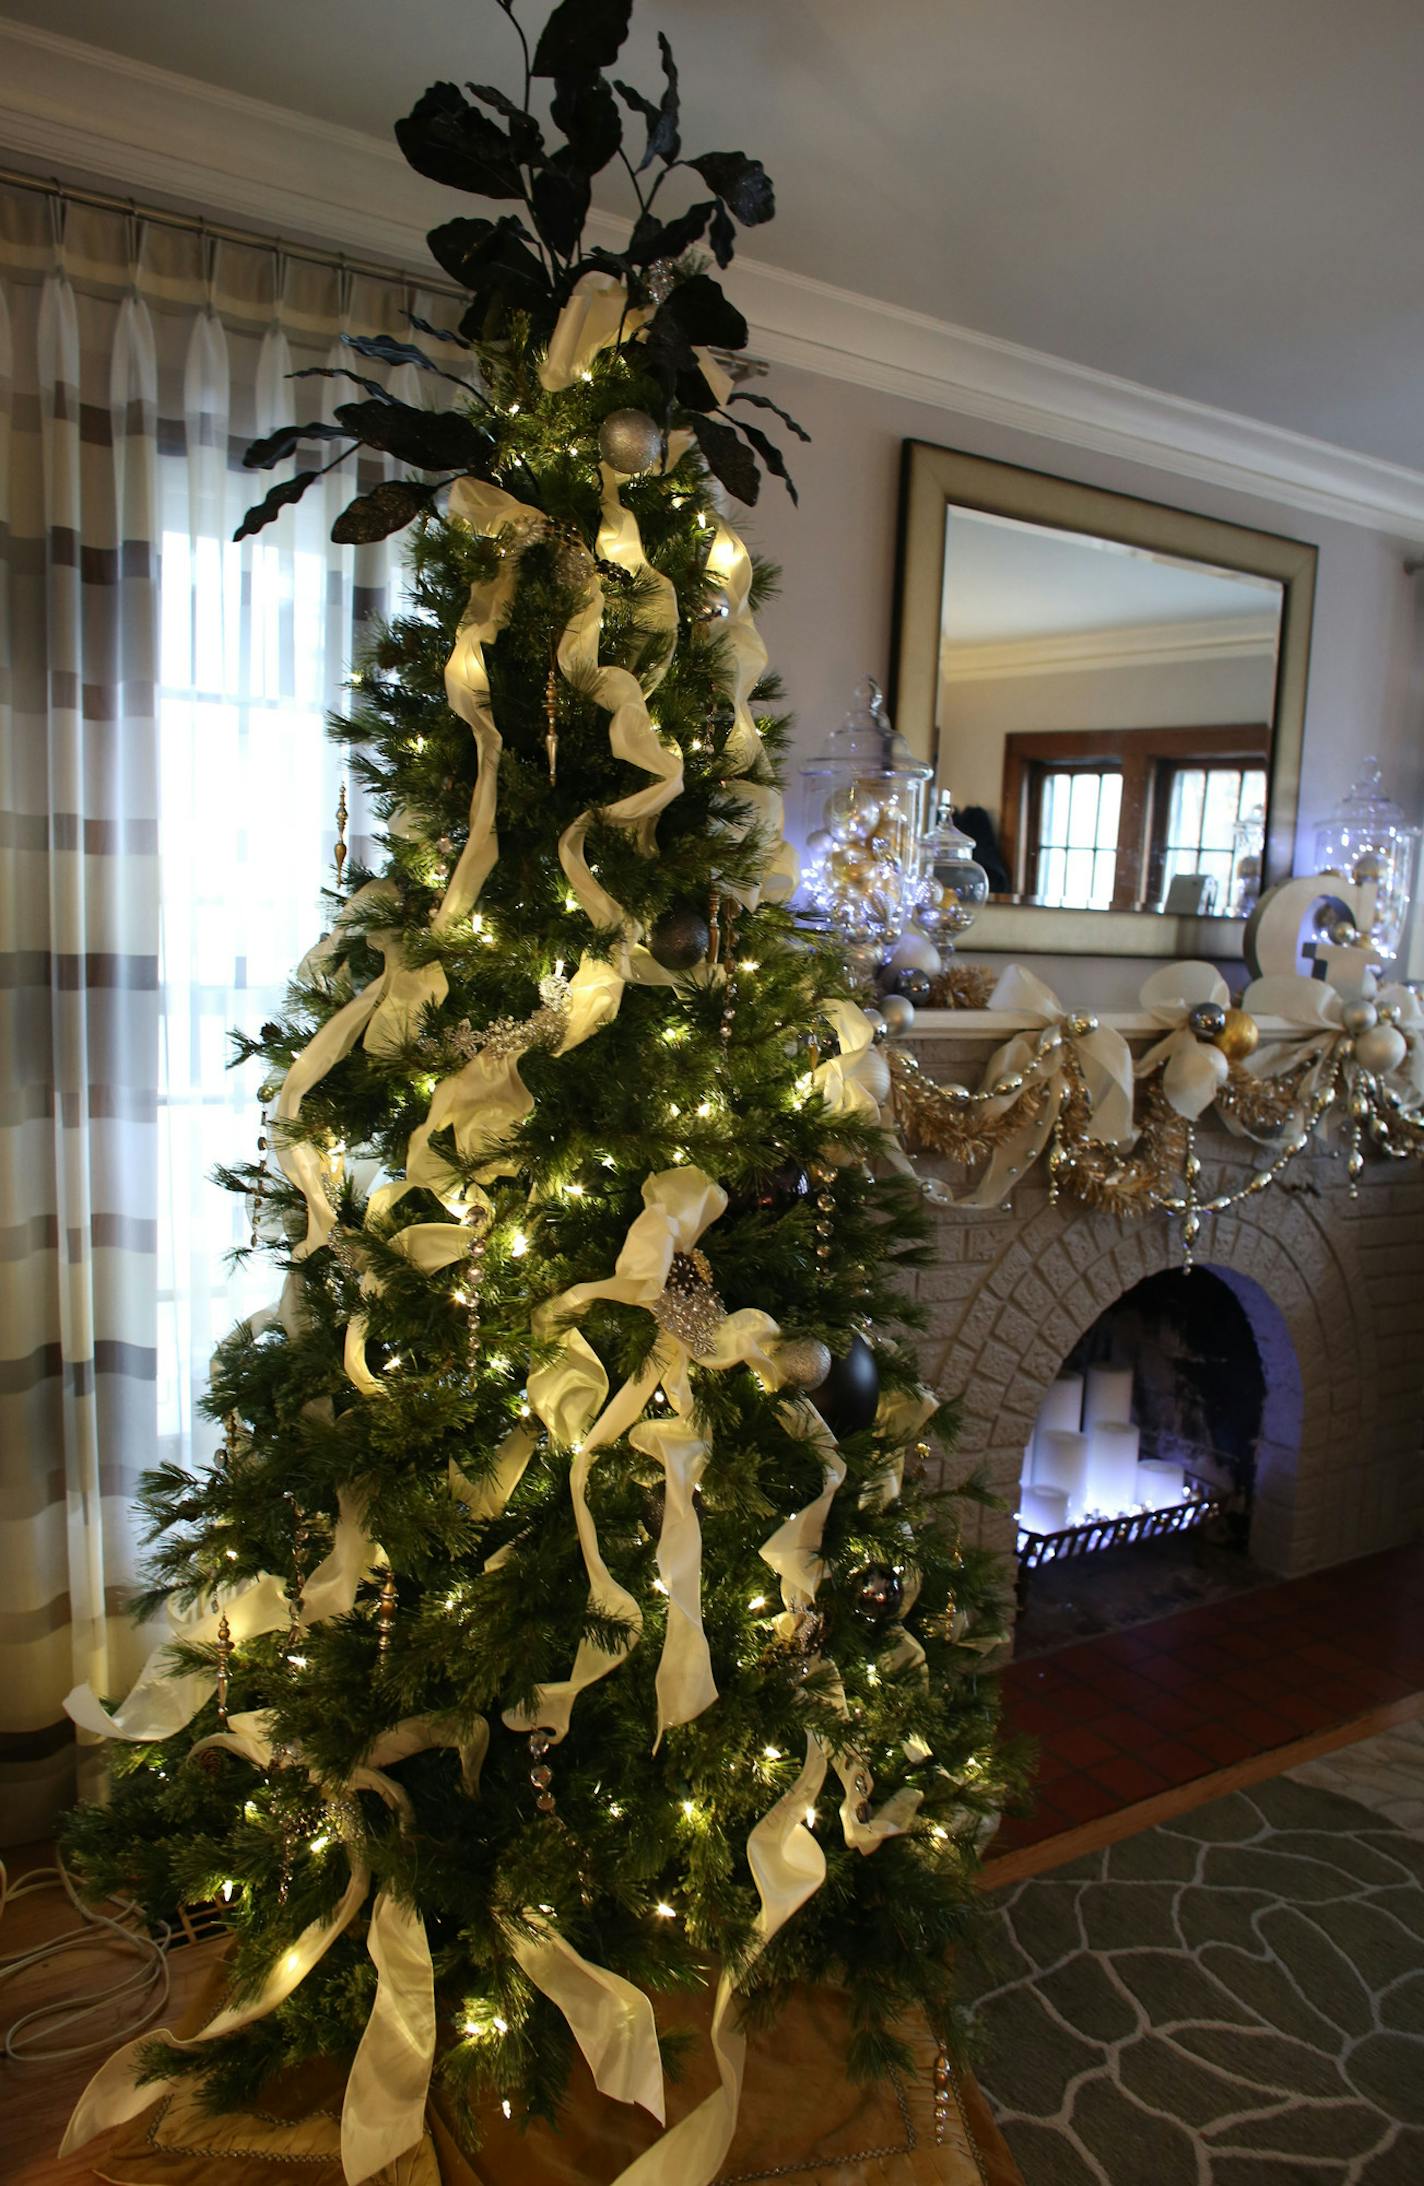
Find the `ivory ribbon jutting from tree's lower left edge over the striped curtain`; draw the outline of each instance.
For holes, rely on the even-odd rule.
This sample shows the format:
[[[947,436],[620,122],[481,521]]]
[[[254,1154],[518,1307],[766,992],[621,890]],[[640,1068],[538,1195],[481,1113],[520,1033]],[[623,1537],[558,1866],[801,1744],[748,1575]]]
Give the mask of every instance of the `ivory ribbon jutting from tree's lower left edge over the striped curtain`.
[[[341,1618],[357,1600],[357,1587],[372,1563],[372,1543],[361,1524],[361,1506],[354,1493],[339,1491],[337,1530],[330,1554],[317,1565],[302,1587],[302,1618],[319,1624],[324,1618]],[[262,1572],[258,1578],[236,1587],[221,1587],[217,1609],[168,1609],[168,1637],[162,1640],[138,1672],[138,1681],[114,1714],[101,1705],[90,1685],[74,1685],[63,1707],[81,1731],[96,1738],[125,1738],[131,1744],[153,1744],[173,1738],[197,1716],[199,1707],[214,1690],[212,1670],[184,1670],[173,1674],[173,1646],[212,1646],[223,1615],[236,1646],[256,1640],[260,1633],[278,1631],[291,1615],[284,1583]]]

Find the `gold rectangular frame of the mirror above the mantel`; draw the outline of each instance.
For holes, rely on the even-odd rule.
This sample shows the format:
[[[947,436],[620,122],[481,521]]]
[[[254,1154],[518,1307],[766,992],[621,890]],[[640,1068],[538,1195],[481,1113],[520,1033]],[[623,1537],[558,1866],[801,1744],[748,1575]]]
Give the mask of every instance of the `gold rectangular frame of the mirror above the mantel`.
[[[1319,549],[1275,531],[1251,531],[1168,503],[1113,494],[1048,470],[997,463],[960,448],[908,439],[901,450],[895,560],[895,649],[890,713],[917,759],[938,769],[938,654],[945,590],[945,512],[980,509],[1054,531],[1085,531],[1155,553],[1273,577],[1282,586],[1275,717],[1267,776],[1262,892],[1291,874],[1299,809],[1310,625]],[[1166,912],[1054,909],[1043,903],[987,903],[969,947],[1032,949],[1043,955],[1205,955],[1238,957],[1245,918],[1175,918]]]

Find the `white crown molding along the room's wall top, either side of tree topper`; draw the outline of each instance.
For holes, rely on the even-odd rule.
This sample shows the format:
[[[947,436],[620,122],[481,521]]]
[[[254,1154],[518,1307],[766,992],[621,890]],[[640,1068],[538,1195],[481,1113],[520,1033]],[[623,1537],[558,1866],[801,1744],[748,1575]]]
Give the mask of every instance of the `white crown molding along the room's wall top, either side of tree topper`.
[[[0,24],[0,140],[42,173],[400,271],[429,273],[424,230],[451,201],[394,142],[17,22]],[[591,230],[615,245],[628,234],[606,214]],[[1424,472],[755,258],[737,258],[728,286],[770,363],[1424,542]]]

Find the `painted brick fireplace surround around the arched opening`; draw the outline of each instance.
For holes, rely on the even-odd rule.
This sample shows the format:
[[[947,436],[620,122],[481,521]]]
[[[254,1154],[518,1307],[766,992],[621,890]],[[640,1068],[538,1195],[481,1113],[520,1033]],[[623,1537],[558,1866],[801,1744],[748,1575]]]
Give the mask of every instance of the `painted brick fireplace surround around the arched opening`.
[[[1133,1041],[1133,1021],[1111,1019]],[[978,1084],[1004,1034],[980,1012],[921,1012],[906,1045],[936,1080]],[[1251,1148],[1210,1115],[1199,1128],[1203,1191],[1253,1165]],[[956,1172],[921,1154],[921,1174]],[[936,1266],[919,1274],[927,1379],[958,1397],[962,1425],[947,1476],[982,1467],[1017,1500],[1024,1445],[1043,1392],[1076,1340],[1133,1283],[1181,1266],[1179,1226],[1133,1222],[1070,1196],[1048,1200],[1043,1163],[1004,1209],[945,1209]],[[1256,1452],[1251,1554],[1297,1576],[1424,1530],[1424,1174],[1369,1159],[1358,1198],[1345,1163],[1310,1148],[1282,1180],[1207,1215],[1199,1268],[1221,1277],[1251,1323],[1267,1375]],[[967,1513],[967,1528],[1013,1554],[1013,1517]]]

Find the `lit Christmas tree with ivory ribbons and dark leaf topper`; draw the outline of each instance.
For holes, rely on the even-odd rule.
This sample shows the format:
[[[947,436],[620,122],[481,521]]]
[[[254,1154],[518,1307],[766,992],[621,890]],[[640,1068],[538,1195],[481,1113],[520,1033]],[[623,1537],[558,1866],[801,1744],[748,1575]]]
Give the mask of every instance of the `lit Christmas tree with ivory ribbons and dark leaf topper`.
[[[332,2053],[359,2053],[350,2179],[420,2134],[431,2075],[470,2140],[556,2116],[575,2046],[661,2114],[647,2000],[720,1981],[717,2088],[647,2173],[698,2186],[742,2035],[796,1983],[849,1994],[827,2075],[903,2068],[914,2007],[952,2033],[1004,1793],[1000,1574],[925,1465],[949,1419],[903,1340],[923,1211],[884,1062],[785,909],[772,579],[724,514],[785,466],[689,256],[726,265],[772,190],[682,157],[665,42],[656,101],[608,83],[628,9],[562,0],[523,103],[435,85],[398,127],[523,216],[433,232],[455,334],[352,341],[335,461],[365,442],[409,477],[337,536],[413,520],[332,721],[385,863],[337,868],[284,1019],[236,1043],[278,1167],[223,1180],[280,1309],[217,1353],[212,1469],[147,1482],[142,1607],[175,1644],[114,1714],[72,1701],[118,1744],[70,1860],[153,1913],[217,1900],[232,1989],[188,2048],[120,2053],[72,2138],[155,2072],[241,2105]],[[643,210],[582,254],[612,157]],[[678,171],[702,195],[663,219]]]

